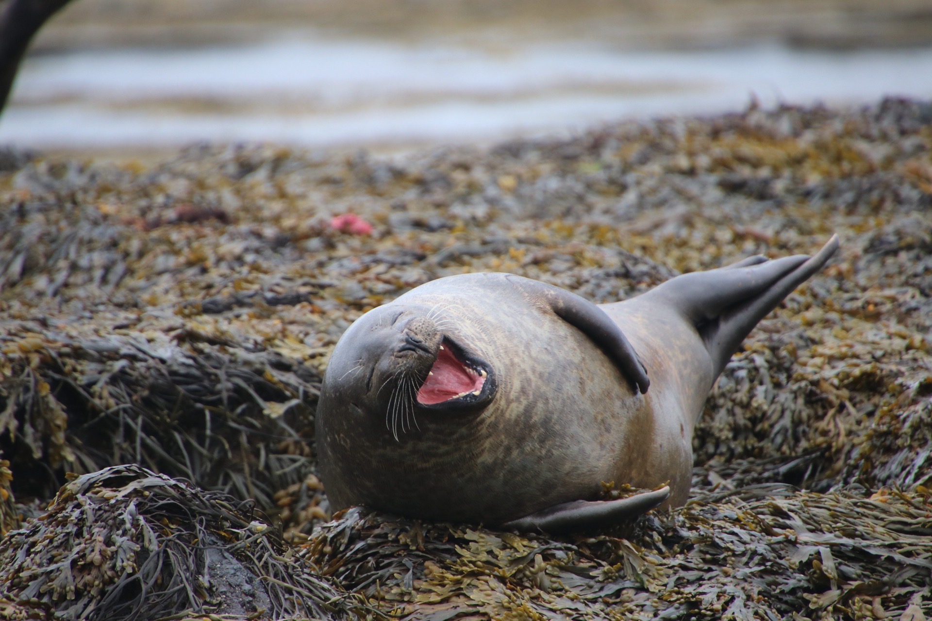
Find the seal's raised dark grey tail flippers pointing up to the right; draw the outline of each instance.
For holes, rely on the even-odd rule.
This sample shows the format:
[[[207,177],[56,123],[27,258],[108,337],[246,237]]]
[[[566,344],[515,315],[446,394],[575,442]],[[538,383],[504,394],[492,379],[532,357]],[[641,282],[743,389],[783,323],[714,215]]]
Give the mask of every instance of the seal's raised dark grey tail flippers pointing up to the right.
[[[692,320],[718,376],[754,326],[838,248],[835,235],[812,257],[801,254],[774,261],[748,257],[720,269],[673,278],[656,291]]]

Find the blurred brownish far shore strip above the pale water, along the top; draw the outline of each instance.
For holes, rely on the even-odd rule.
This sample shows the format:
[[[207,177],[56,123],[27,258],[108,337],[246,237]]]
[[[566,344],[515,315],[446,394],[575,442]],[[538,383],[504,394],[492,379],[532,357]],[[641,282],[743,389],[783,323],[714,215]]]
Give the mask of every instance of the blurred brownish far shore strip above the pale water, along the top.
[[[798,47],[924,46],[932,12],[923,0],[879,7],[870,0],[676,0],[651,3],[583,0],[377,0],[293,2],[210,0],[197,5],[135,0],[112,10],[105,0],[67,7],[40,34],[36,48],[122,45],[209,45],[260,40],[285,30],[392,41],[443,39],[495,45],[502,34],[526,43],[611,41],[629,49],[696,50],[781,43]]]

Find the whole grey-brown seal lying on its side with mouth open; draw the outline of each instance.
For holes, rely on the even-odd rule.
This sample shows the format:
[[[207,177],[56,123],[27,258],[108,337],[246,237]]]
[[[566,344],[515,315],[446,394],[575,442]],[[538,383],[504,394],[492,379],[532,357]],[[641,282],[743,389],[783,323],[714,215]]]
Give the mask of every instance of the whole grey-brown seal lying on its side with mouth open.
[[[592,304],[510,274],[433,280],[357,319],[317,409],[331,506],[563,532],[685,503],[692,430],[741,341],[838,249]],[[652,489],[602,501],[603,482]]]

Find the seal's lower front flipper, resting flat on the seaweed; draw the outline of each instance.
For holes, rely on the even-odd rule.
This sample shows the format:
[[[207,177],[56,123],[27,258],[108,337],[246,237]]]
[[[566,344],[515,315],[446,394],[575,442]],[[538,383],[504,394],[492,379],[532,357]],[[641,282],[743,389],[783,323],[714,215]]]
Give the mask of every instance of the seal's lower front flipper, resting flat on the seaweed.
[[[653,492],[636,493],[618,500],[574,500],[505,522],[501,528],[551,534],[583,531],[596,526],[635,520],[660,505],[669,495],[670,488],[664,486]]]

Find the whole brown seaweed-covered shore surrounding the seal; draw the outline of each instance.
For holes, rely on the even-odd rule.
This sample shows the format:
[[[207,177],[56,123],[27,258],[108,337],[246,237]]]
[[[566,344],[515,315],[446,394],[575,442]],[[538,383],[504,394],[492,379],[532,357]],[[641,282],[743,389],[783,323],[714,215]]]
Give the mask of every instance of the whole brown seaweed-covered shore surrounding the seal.
[[[41,514],[66,473],[138,464],[210,490],[203,506],[217,492],[229,506],[253,498],[297,549],[269,544],[244,567],[300,568],[305,587],[289,583],[289,597],[352,593],[240,611],[254,618],[932,615],[932,103],[751,108],[391,157],[10,151],[0,205],[5,532]],[[609,302],[755,253],[810,253],[832,233],[842,250],[751,333],[709,397],[686,507],[619,536],[551,540],[359,509],[313,531],[331,517],[314,474],[322,371],[368,308],[488,270]],[[92,532],[67,519],[104,501],[120,515],[158,505],[128,483],[156,479],[132,472],[62,490],[46,520],[7,536],[0,615],[148,618],[103,598],[143,567],[146,584],[168,588],[144,562],[158,537],[177,543],[171,529],[187,528],[190,550],[204,528],[258,541],[243,534],[265,520],[252,506],[240,526],[159,508],[120,527],[144,542],[130,557],[119,520]],[[71,590],[48,586],[61,577],[36,546],[51,540]],[[109,571],[82,580],[94,567]],[[159,614],[203,613],[207,584],[162,598]]]

